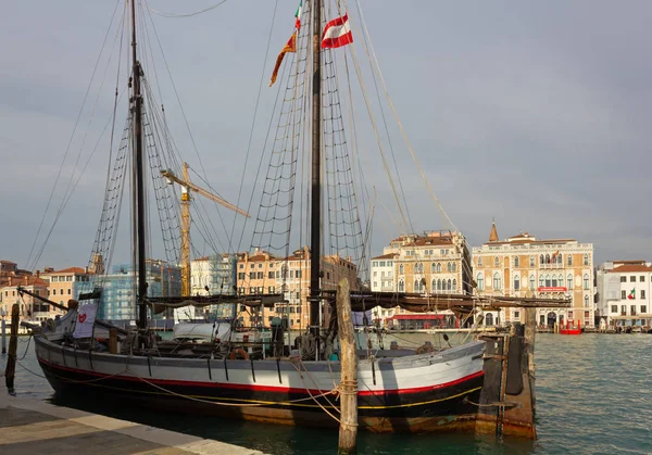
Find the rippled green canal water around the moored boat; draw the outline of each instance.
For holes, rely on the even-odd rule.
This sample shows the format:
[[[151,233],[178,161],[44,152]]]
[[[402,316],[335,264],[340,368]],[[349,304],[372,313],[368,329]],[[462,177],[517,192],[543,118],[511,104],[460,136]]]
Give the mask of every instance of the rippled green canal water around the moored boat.
[[[401,346],[439,334],[386,337]],[[460,340],[451,340],[453,343]],[[374,340],[376,344],[377,340]],[[467,434],[359,434],[360,454],[651,454],[652,334],[579,337],[539,333],[537,365],[537,441]],[[268,454],[333,454],[337,431],[286,428],[188,414],[129,408],[125,403],[63,402],[53,395],[23,337],[16,367],[16,393],[54,404],[258,448]],[[0,367],[4,368],[4,356]]]

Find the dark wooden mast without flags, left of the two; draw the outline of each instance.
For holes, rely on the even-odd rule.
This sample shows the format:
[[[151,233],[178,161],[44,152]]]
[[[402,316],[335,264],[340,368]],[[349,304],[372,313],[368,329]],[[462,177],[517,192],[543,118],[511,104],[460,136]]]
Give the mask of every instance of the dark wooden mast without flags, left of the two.
[[[138,328],[147,327],[147,306],[145,296],[147,294],[146,274],[146,239],[145,239],[145,169],[142,163],[142,96],[140,94],[140,62],[136,55],[136,0],[131,0],[131,63],[134,77],[134,97],[131,99],[134,118],[134,150],[136,152],[136,249],[138,268]]]

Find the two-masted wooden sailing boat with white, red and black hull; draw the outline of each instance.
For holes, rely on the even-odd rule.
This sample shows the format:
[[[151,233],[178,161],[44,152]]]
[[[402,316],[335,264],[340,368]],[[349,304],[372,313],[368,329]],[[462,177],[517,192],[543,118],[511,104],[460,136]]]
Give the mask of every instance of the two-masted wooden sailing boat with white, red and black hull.
[[[140,401],[163,409],[198,410],[247,420],[309,426],[337,426],[340,362],[331,338],[324,334],[321,306],[333,292],[323,289],[321,251],[321,214],[323,170],[321,168],[323,93],[321,47],[322,2],[314,0],[304,11],[311,12],[312,33],[316,41],[312,53],[312,179],[310,225],[310,323],[297,346],[290,346],[287,331],[276,320],[271,342],[234,340],[237,331],[212,326],[211,338],[204,343],[188,339],[168,342],[156,340],[148,330],[149,313],[159,308],[184,305],[229,303],[252,312],[284,304],[281,292],[243,293],[239,295],[150,296],[148,291],[145,205],[145,156],[141,106],[142,69],[136,54],[136,31],[133,33],[131,113],[136,184],[133,200],[138,268],[137,330],[116,328],[93,318],[102,289],[80,295],[82,304],[72,302],[67,313],[40,330],[35,330],[38,362],[58,394],[89,393],[110,397],[129,397],[125,403]],[[135,7],[131,2],[131,15]],[[135,28],[136,20],[131,21]],[[308,92],[308,90],[306,90]],[[261,216],[259,216],[261,218]],[[284,232],[285,233],[285,232]],[[288,255],[289,256],[289,255]],[[287,258],[287,256],[286,256]],[[280,258],[279,261],[281,261]],[[102,267],[97,267],[99,273]],[[354,288],[355,289],[355,288]],[[41,298],[42,300],[42,298]],[[356,290],[351,295],[356,311],[375,305],[423,311],[432,308],[430,299],[417,294],[383,294]],[[84,303],[90,302],[90,303]],[[469,312],[471,295],[449,295],[440,305]],[[330,319],[335,320],[334,318]],[[330,340],[330,341],[329,341]],[[473,430],[484,383],[484,341],[442,351],[417,353],[415,350],[361,350],[358,366],[359,425],[374,432],[441,432]]]

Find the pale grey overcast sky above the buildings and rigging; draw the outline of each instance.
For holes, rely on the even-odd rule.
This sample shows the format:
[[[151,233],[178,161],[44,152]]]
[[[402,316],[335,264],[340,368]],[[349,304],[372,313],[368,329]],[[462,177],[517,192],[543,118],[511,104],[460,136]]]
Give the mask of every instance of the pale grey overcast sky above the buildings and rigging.
[[[150,9],[176,14],[216,3],[148,0]],[[540,239],[593,243],[597,264],[652,260],[648,180],[652,3],[360,0],[360,4],[393,105],[424,173],[471,245],[487,241],[496,219],[501,238],[528,231]],[[40,250],[77,153],[86,150],[85,163],[95,143],[92,135],[110,118],[115,77],[108,74],[100,87],[104,71],[100,65],[66,155],[115,5],[113,0],[34,0],[3,8],[0,258],[18,267],[26,267]],[[254,112],[254,125],[264,126],[276,96],[266,87],[268,77],[291,33],[296,8],[297,0],[229,0],[192,17],[153,15],[165,51],[156,75],[162,77],[166,66],[173,74],[201,166],[211,187],[231,202],[248,199],[238,199],[238,191],[250,170],[244,156]],[[359,45],[362,34],[354,2],[349,2],[349,10]],[[108,42],[113,39],[114,31]],[[178,148],[200,167],[198,160],[192,161],[195,146],[171,88],[167,85],[172,94],[163,98],[168,123],[178,125],[171,127]],[[93,109],[97,93],[101,94]],[[87,140],[85,129],[91,131]],[[254,128],[253,152],[262,149],[264,134],[265,127]],[[448,228],[405,147],[399,146],[400,136],[392,141],[412,228]],[[373,137],[366,142],[373,144]],[[100,149],[36,268],[87,263],[104,186],[106,151]],[[404,154],[399,156],[399,151]],[[388,187],[379,182],[379,161],[366,162],[365,173],[377,178],[379,198],[391,204]],[[252,190],[250,180],[246,179],[244,194]],[[380,206],[377,212],[373,254],[380,254],[383,245],[401,233]],[[123,260],[128,261],[128,254]]]

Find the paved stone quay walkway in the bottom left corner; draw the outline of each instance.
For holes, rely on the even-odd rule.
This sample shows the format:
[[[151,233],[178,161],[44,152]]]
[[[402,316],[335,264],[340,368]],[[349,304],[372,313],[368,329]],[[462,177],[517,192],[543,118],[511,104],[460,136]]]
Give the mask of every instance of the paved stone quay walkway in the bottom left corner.
[[[4,379],[4,378],[0,378]],[[0,408],[0,454],[228,454],[262,452],[126,420],[9,397]]]

